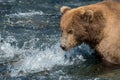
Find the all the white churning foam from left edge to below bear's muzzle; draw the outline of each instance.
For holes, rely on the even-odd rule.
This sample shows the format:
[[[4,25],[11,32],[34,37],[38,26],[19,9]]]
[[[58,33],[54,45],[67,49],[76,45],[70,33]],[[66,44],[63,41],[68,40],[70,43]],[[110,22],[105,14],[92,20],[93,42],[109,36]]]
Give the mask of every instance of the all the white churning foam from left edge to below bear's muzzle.
[[[74,60],[69,61],[69,59],[65,58],[66,53],[60,49],[59,43],[51,45],[51,47],[46,47],[42,50],[39,48],[33,48],[35,46],[35,41],[37,41],[35,39],[24,42],[22,48],[18,48],[17,45],[10,44],[12,42],[16,42],[17,44],[17,40],[13,36],[8,36],[6,39],[1,37],[0,39],[3,41],[1,42],[0,46],[0,61],[1,63],[12,62],[8,66],[8,69],[11,71],[11,76],[21,76],[28,73],[36,73],[44,70],[50,70],[56,65],[66,66],[74,63]],[[28,43],[29,49],[26,49],[26,47],[28,47],[26,44]],[[81,61],[84,61],[81,55],[77,57]],[[20,72],[22,72],[22,74],[20,74]]]

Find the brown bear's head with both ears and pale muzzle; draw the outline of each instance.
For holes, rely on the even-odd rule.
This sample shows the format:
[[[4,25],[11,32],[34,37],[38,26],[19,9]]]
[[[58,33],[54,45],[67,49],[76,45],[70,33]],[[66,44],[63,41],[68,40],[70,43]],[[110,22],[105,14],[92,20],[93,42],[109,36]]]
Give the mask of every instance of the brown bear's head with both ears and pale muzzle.
[[[99,23],[95,23],[101,20],[101,14],[98,14],[98,17],[96,17],[93,10],[84,9],[84,7],[71,9],[70,7],[63,6],[60,11],[62,13],[60,22],[62,39],[60,47],[63,50],[69,50],[83,42],[87,42],[92,36],[95,36],[94,34],[100,32],[100,29],[97,27],[101,26],[102,21],[100,26]],[[96,22],[93,22],[95,19]],[[94,32],[95,30],[97,30],[96,33]]]

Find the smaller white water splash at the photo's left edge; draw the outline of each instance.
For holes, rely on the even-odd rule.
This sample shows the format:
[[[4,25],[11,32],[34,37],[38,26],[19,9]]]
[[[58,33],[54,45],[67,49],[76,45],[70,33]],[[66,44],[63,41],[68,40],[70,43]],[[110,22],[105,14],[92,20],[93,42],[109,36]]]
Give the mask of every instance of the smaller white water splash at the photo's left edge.
[[[4,40],[0,35],[0,63],[5,63],[14,59],[19,53],[17,47],[11,46],[10,42],[14,42],[15,38],[9,36]]]

